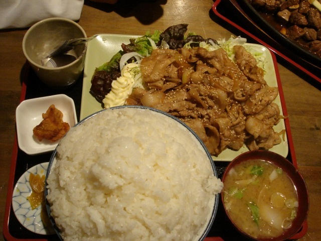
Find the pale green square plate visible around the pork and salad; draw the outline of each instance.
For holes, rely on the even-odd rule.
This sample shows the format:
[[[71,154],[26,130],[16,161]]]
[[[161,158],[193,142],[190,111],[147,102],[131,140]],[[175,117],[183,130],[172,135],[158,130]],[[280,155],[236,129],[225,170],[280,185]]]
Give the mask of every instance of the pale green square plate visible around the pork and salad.
[[[84,67],[84,81],[81,97],[81,110],[80,119],[87,117],[88,115],[95,113],[101,109],[103,106],[99,103],[93,95],[90,94],[91,79],[95,72],[95,68],[101,66],[111,59],[119,50],[121,50],[121,44],[129,44],[130,38],[137,38],[139,36],[135,35],[117,35],[117,34],[99,34],[95,39],[88,42],[85,67]],[[270,51],[263,45],[249,44],[246,43],[245,46],[252,48],[254,52],[262,53],[265,59],[264,69],[265,75],[264,80],[271,87],[278,86],[277,76],[275,69],[277,68],[277,63],[273,61]],[[277,72],[278,73],[278,72]],[[280,114],[283,114],[281,99],[278,95],[274,100],[280,108]],[[285,124],[283,119],[273,128],[276,132],[281,132],[285,130]],[[238,155],[249,151],[244,145],[240,150],[233,151],[230,149],[224,150],[218,157],[213,157],[214,161],[232,161]],[[271,152],[275,152],[283,157],[288,154],[288,143],[287,137],[285,135],[284,140],[279,145],[275,145],[273,148],[269,149]]]

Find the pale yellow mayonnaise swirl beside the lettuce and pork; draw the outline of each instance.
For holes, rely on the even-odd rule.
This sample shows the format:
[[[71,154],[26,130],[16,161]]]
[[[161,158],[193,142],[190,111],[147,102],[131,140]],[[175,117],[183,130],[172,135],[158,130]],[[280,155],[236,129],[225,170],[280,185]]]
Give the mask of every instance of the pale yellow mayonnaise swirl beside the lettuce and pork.
[[[139,64],[130,63],[121,70],[121,76],[111,83],[111,90],[103,99],[104,107],[123,105],[132,88],[141,82]]]

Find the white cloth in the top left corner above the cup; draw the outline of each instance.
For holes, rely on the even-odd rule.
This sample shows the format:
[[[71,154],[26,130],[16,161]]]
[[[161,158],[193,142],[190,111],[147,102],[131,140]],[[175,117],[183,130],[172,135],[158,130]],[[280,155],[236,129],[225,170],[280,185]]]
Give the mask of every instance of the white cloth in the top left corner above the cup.
[[[0,0],[0,29],[26,28],[40,20],[79,20],[84,0]]]

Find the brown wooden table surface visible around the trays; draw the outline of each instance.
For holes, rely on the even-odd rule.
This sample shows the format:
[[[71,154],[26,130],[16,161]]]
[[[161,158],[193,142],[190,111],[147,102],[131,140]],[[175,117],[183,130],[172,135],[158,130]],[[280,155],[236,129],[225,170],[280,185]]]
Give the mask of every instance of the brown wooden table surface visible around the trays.
[[[143,35],[146,30],[165,30],[188,23],[203,37],[229,38],[228,26],[210,18],[211,0],[122,1],[116,5],[85,1],[79,24],[88,36],[100,33]],[[220,24],[218,24],[220,23]],[[27,29],[0,31],[0,226],[4,223],[8,179],[15,138],[15,110],[20,103],[21,75],[26,58],[22,40]],[[286,65],[286,64],[284,64]],[[308,230],[300,240],[321,240],[321,92],[320,84],[299,77],[278,64],[285,95],[298,169],[310,198]],[[3,232],[1,231],[1,234]],[[0,235],[0,239],[3,235]]]

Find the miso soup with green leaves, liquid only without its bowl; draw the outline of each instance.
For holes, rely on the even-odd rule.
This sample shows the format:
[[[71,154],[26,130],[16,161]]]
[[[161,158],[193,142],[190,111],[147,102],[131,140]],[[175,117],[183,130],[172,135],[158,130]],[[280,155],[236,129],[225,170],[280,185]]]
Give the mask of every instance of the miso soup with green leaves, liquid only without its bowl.
[[[290,228],[298,199],[282,169],[262,160],[244,161],[224,178],[224,205],[233,222],[254,238],[271,238]]]

